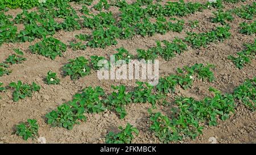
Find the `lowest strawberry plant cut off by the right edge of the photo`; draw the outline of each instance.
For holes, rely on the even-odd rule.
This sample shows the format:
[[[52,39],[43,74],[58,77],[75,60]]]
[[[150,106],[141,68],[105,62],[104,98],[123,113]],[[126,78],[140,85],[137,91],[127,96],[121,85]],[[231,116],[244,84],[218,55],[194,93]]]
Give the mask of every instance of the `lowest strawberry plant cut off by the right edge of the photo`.
[[[252,111],[256,110],[256,77],[246,79],[242,85],[234,90],[234,97],[241,100],[247,108]]]

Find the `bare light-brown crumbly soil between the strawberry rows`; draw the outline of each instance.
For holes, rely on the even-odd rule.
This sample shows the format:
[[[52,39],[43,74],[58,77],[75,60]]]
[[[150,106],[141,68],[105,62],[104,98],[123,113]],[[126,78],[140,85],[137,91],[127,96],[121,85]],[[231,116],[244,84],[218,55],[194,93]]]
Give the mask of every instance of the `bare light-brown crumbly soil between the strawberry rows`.
[[[97,1],[96,1],[97,2]],[[96,3],[96,2],[93,2]],[[129,1],[134,2],[134,1]],[[166,2],[166,1],[164,1]],[[188,2],[188,1],[185,1]],[[205,1],[190,1],[201,2]],[[236,5],[225,4],[225,10],[239,7],[245,4],[251,4],[253,1],[240,2]],[[71,3],[74,9],[81,9],[81,5]],[[7,14],[15,16],[22,10],[10,10]],[[118,15],[118,8],[111,7],[110,11]],[[44,117],[51,110],[55,110],[60,104],[72,99],[72,96],[88,86],[101,86],[107,93],[112,89],[111,85],[125,85],[129,90],[135,87],[135,80],[99,80],[97,73],[93,71],[89,76],[80,78],[77,81],[71,81],[69,77],[61,77],[60,85],[46,85],[43,79],[49,70],[56,72],[58,75],[63,74],[61,67],[68,62],[70,58],[84,56],[89,59],[92,55],[109,57],[116,53],[115,49],[125,47],[130,53],[136,55],[136,49],[147,49],[155,46],[156,40],[173,40],[175,37],[184,38],[186,31],[206,32],[220,26],[220,24],[211,23],[210,16],[214,10],[204,10],[195,14],[185,16],[181,19],[185,20],[184,30],[181,33],[168,32],[165,35],[156,34],[152,37],[134,36],[127,40],[118,40],[117,45],[112,45],[101,48],[86,48],[86,50],[72,51],[68,48],[63,57],[56,57],[55,60],[44,56],[34,55],[30,53],[28,47],[40,41],[36,39],[31,43],[5,43],[0,47],[0,62],[4,61],[11,53],[13,48],[19,48],[24,51],[24,57],[27,61],[23,64],[12,65],[13,70],[9,76],[0,77],[0,81],[7,85],[10,82],[21,80],[25,83],[36,82],[41,86],[41,90],[33,94],[32,98],[13,102],[12,90],[7,90],[6,93],[0,93],[0,143],[39,143],[38,140],[24,141],[22,137],[14,134],[15,125],[20,122],[26,122],[28,118],[38,120],[39,136],[46,138],[46,143],[105,143],[105,135],[110,132],[118,131],[119,125],[126,123],[133,124],[139,129],[139,135],[135,137],[133,143],[160,143],[157,137],[149,130],[150,120],[147,109],[151,104],[130,104],[126,107],[127,116],[125,119],[119,119],[112,111],[105,111],[100,114],[86,114],[87,121],[81,122],[74,126],[72,131],[65,128],[51,128],[46,123]],[[78,11],[77,11],[78,12]],[[199,20],[199,27],[192,29],[188,22],[189,20]],[[255,35],[242,35],[239,33],[239,24],[245,21],[234,15],[233,22],[230,23],[232,36],[230,39],[223,42],[211,43],[206,48],[193,49],[188,47],[188,51],[172,58],[170,61],[164,61],[159,58],[159,73],[160,77],[175,73],[176,68],[182,68],[185,65],[193,65],[195,63],[214,64],[213,69],[214,82],[203,82],[196,80],[191,89],[183,90],[177,87],[175,94],[169,97],[173,99],[177,95],[185,97],[193,97],[195,99],[203,99],[211,96],[208,89],[210,86],[221,90],[222,93],[232,93],[234,88],[240,85],[246,78],[256,76],[256,60],[253,59],[250,64],[247,64],[243,69],[237,69],[234,64],[228,60],[228,55],[235,55],[241,51],[243,43],[253,43]],[[18,26],[22,29],[23,26]],[[57,32],[54,37],[69,44],[69,41],[75,38],[79,33],[90,33],[89,29],[83,28],[79,31]],[[210,137],[216,139],[216,143],[256,143],[256,115],[255,112],[247,110],[240,102],[234,115],[222,122],[219,121],[216,127],[206,126],[203,130],[203,135],[200,135],[195,140],[186,139],[175,143],[211,143]],[[163,113],[167,112],[168,107],[157,105],[156,111]],[[212,138],[210,138],[212,139]],[[215,142],[214,142],[215,143]]]

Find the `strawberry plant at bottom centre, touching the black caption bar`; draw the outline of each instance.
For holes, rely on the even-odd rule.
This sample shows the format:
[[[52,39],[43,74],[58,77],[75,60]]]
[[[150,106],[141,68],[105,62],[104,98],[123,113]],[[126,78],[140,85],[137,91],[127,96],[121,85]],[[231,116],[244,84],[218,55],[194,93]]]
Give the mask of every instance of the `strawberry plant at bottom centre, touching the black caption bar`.
[[[119,133],[109,132],[106,135],[106,144],[130,144],[134,139],[134,133],[138,136],[139,131],[133,125],[127,123],[126,127],[118,127]]]

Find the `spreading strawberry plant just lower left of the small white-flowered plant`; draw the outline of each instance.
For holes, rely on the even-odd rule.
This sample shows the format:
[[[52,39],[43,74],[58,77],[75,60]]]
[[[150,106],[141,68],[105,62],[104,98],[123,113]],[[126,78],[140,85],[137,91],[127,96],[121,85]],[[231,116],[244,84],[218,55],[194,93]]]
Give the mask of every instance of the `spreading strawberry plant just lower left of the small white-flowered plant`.
[[[9,84],[9,87],[14,89],[13,92],[13,100],[15,102],[18,102],[19,99],[24,99],[26,97],[32,97],[33,91],[39,91],[40,86],[36,85],[35,82],[32,82],[31,85],[28,85],[26,83],[22,83],[21,81],[18,81],[17,83],[11,82]]]

